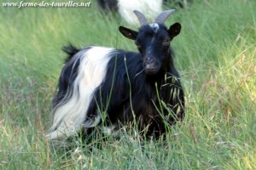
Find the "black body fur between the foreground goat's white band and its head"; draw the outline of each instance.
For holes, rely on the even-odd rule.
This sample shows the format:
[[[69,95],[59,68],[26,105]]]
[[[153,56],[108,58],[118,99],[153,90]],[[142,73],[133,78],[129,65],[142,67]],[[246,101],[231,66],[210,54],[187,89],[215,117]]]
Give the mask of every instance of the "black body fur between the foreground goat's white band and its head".
[[[184,94],[179,75],[172,65],[172,61],[169,63],[172,65],[172,69],[168,72],[161,69],[158,74],[148,76],[143,71],[141,54],[118,50],[113,56],[108,63],[107,77],[97,88],[95,99],[90,103],[89,120],[96,117],[97,110],[100,108],[101,111],[108,113],[107,119],[103,122],[108,126],[119,124],[119,122],[133,122],[133,110],[139,130],[148,126],[148,131],[145,134],[158,137],[160,134],[166,133],[166,129],[163,117],[156,109],[158,107],[160,110],[157,91],[160,94],[160,100],[166,102],[172,111],[170,113],[164,109],[163,116],[166,117],[166,122],[174,124],[175,121],[183,119]],[[171,51],[169,51],[169,57],[171,58]],[[180,90],[175,99],[173,99],[172,93],[174,88]],[[178,113],[177,105],[181,106],[181,111]]]

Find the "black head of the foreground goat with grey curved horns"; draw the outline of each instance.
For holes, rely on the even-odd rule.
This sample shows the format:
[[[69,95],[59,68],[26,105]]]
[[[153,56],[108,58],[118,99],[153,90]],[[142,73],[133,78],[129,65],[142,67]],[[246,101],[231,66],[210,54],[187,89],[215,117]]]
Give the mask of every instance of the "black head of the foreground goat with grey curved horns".
[[[119,26],[119,31],[127,38],[135,40],[139,52],[143,56],[144,71],[148,75],[157,74],[163,63],[170,57],[170,42],[173,37],[176,37],[181,25],[175,23],[169,29],[164,25],[164,21],[169,14],[172,14],[174,9],[166,10],[159,14],[153,23],[149,23],[145,16],[135,10],[140,21],[141,27],[139,31],[133,31],[129,28]]]

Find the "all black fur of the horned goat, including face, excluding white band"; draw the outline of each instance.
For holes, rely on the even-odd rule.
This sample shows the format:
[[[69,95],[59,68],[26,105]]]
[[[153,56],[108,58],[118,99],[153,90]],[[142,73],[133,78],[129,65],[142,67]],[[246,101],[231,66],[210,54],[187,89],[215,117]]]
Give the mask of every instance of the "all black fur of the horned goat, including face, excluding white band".
[[[87,122],[105,113],[106,119],[101,122],[104,125],[120,126],[136,121],[141,132],[147,128],[143,134],[158,137],[166,133],[166,124],[183,120],[184,93],[170,47],[180,29],[179,23],[169,29],[164,25],[157,29],[147,25],[138,32],[120,26],[119,31],[125,37],[135,40],[139,53],[114,49],[108,54],[111,59],[106,77],[95,87],[82,126],[86,127]],[[72,89],[78,88],[73,87],[73,82],[78,75],[80,58],[72,56],[85,54],[90,48],[93,47],[79,51],[71,45],[64,49],[70,57],[61,72],[54,106],[65,105],[61,101],[67,101]]]

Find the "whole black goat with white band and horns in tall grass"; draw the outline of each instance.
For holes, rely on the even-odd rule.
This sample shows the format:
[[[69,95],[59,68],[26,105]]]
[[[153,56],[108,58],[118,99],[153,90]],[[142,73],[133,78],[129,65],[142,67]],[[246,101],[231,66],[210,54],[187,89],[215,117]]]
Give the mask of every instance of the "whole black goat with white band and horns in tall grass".
[[[183,119],[183,88],[170,48],[181,26],[164,25],[173,11],[164,11],[150,24],[134,11],[141,23],[139,31],[119,26],[125,37],[135,40],[139,53],[96,46],[65,48],[70,57],[53,100],[48,139],[69,137],[100,124],[113,129],[134,121],[140,132],[158,137],[166,133],[166,125]]]

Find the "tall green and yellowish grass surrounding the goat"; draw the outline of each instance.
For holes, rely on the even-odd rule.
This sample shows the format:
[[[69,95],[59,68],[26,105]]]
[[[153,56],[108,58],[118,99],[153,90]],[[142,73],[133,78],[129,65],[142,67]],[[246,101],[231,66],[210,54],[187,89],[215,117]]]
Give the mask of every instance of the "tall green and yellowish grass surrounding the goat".
[[[183,26],[172,47],[186,93],[185,119],[166,141],[141,144],[124,133],[90,144],[73,139],[66,149],[44,139],[63,45],[136,50],[118,31],[128,24],[91,2],[90,8],[0,4],[0,169],[256,169],[254,0],[195,0],[166,21]]]

